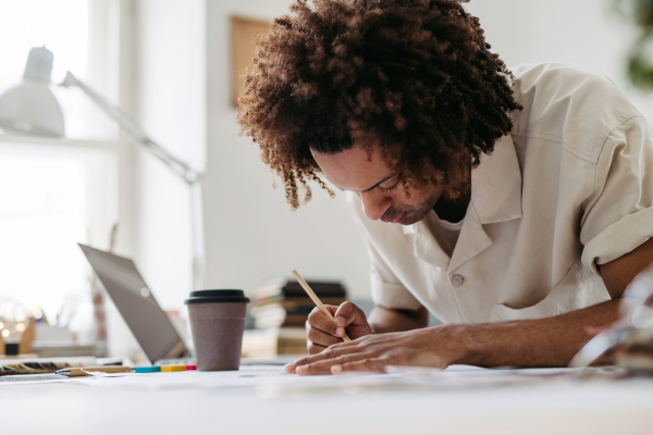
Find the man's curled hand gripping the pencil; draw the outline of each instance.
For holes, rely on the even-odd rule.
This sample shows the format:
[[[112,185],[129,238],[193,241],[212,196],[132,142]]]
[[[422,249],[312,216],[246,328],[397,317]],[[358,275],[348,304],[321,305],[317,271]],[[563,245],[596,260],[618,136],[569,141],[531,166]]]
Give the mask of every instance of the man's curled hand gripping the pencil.
[[[329,319],[317,307],[311,311],[306,322],[310,355],[319,353],[331,345],[342,343],[342,336],[345,333],[353,340],[372,333],[365,313],[354,303],[344,302],[340,307],[324,307],[335,321]]]

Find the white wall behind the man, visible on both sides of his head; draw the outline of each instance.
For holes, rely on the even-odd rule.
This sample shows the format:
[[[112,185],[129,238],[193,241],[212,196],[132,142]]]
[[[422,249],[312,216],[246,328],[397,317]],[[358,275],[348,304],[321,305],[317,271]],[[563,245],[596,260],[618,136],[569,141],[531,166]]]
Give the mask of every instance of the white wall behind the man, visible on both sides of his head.
[[[651,117],[653,102],[629,89],[624,59],[630,32],[608,0],[472,0],[493,50],[508,66],[563,61],[590,66],[624,88]],[[231,107],[232,14],[270,20],[288,0],[140,0],[138,114],[148,132],[178,153],[201,160],[206,144],[207,288],[250,289],[297,269],[307,277],[342,278],[355,297],[369,296],[364,243],[343,195],[316,188],[291,212],[257,149],[237,136]],[[167,308],[190,289],[185,186],[141,156],[138,265]]]

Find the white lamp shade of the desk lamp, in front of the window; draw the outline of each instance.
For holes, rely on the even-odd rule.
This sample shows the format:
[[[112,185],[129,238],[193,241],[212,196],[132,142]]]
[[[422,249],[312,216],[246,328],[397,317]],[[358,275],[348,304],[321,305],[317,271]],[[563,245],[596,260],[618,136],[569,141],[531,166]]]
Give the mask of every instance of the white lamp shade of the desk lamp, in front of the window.
[[[8,133],[61,137],[63,113],[50,90],[52,52],[29,50],[23,82],[0,96],[0,128]]]

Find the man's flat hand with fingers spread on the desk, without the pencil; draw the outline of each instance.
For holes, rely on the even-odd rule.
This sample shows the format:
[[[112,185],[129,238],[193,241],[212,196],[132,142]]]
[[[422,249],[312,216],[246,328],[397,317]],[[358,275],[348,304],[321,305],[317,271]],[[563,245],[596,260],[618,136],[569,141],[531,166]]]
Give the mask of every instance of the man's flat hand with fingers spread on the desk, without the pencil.
[[[402,333],[368,334],[349,343],[332,344],[318,355],[287,364],[285,370],[308,375],[384,372],[386,365],[444,369],[461,357],[463,349],[457,346],[455,337],[458,330],[457,325],[443,325]]]

